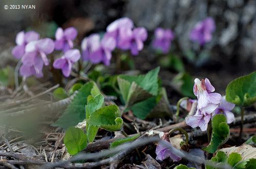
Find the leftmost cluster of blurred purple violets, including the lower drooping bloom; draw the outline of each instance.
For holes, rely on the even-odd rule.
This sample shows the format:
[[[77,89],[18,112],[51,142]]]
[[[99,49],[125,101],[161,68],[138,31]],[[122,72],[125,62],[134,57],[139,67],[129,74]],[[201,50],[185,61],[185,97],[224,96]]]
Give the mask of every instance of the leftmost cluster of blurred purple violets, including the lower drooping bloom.
[[[25,77],[31,75],[38,78],[42,77],[42,68],[44,65],[49,65],[47,55],[56,49],[65,52],[63,57],[66,58],[67,64],[64,62],[56,64],[55,62],[58,63],[60,60],[57,59],[53,65],[57,65],[55,68],[61,68],[63,74],[68,77],[72,64],[80,58],[79,50],[72,49],[74,46],[73,40],[76,36],[77,30],[74,27],[69,27],[65,31],[59,27],[55,34],[55,41],[50,38],[40,39],[40,35],[34,31],[28,31],[27,33],[24,31],[19,32],[16,36],[17,45],[12,49],[12,55],[22,60],[22,66],[19,69],[20,75]],[[72,52],[74,50],[76,52]]]

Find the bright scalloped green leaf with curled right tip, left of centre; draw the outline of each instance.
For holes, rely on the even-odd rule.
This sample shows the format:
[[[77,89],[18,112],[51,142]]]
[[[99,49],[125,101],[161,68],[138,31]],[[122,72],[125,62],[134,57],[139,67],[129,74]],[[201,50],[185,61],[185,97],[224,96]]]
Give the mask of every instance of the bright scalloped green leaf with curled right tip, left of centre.
[[[109,105],[97,109],[90,115],[86,122],[109,131],[119,131],[122,129],[123,124],[117,105]]]

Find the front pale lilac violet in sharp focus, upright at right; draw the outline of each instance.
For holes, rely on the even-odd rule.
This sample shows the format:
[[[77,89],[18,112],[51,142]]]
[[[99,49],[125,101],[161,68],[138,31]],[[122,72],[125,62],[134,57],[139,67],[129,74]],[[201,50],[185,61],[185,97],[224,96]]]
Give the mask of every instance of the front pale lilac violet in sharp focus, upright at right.
[[[219,93],[211,93],[214,91],[215,88],[209,79],[205,78],[202,81],[195,79],[194,94],[198,98],[197,112],[196,115],[187,118],[187,125],[193,128],[199,126],[202,131],[206,131],[212,112],[218,107],[222,98]]]

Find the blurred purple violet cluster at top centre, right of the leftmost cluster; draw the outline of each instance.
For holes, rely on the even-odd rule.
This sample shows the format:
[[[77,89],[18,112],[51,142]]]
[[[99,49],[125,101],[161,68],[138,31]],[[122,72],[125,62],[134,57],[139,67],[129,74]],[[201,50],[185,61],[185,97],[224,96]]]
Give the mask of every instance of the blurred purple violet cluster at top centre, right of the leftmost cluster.
[[[147,31],[144,27],[134,28],[133,21],[127,17],[117,19],[106,27],[106,33],[101,40],[99,34],[92,34],[82,40],[83,61],[94,64],[103,62],[109,66],[111,52],[115,48],[130,49],[133,55],[138,55],[146,38]]]

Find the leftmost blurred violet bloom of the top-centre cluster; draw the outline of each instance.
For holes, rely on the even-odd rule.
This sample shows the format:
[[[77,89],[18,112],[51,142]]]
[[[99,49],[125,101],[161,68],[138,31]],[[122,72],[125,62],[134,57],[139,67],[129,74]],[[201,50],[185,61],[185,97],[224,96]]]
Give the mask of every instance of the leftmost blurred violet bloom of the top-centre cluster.
[[[100,47],[100,36],[98,34],[92,34],[82,40],[82,57],[83,61],[90,60],[90,54]]]

